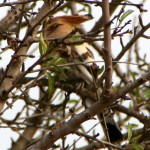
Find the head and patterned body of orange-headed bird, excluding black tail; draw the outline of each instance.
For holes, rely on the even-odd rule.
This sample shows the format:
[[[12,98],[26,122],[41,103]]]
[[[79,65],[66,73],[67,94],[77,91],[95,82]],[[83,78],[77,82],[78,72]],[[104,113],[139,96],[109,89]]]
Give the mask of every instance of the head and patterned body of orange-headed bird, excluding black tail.
[[[91,15],[59,16],[50,18],[45,25],[44,39],[65,38],[67,35],[71,34],[74,29],[78,28],[81,23],[90,19],[92,19]],[[78,36],[79,33],[76,33],[75,35]],[[72,38],[66,38],[64,41],[72,42]],[[93,53],[88,48],[87,43],[70,46],[59,45],[55,51],[59,52],[60,56],[68,58],[69,62],[77,63],[94,61]],[[77,65],[77,68],[80,78],[83,78],[87,84],[93,83],[93,76],[89,72],[89,69],[92,69],[92,72],[96,74],[95,72],[98,71],[98,66],[94,62],[87,63],[86,67]],[[76,74],[76,76],[78,75]]]

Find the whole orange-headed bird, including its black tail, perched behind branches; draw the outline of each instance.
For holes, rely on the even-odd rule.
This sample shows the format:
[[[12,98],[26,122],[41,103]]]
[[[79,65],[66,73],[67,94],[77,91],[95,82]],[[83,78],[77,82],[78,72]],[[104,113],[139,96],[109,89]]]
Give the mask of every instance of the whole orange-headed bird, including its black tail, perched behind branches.
[[[93,17],[89,14],[49,17],[44,25],[44,40],[49,43],[51,43],[52,39],[64,39],[65,42],[71,42],[72,38],[69,38],[71,33],[79,28],[81,23],[89,21],[92,18]],[[75,35],[80,36],[77,32]],[[83,79],[83,81],[89,86],[94,83],[94,80],[97,78],[99,67],[94,62],[94,55],[87,43],[78,43],[67,46],[62,43],[55,51],[59,53],[61,57],[66,57],[69,62],[90,62],[86,65],[74,66],[72,70],[76,68],[78,71],[74,71],[71,76],[77,76]],[[106,118],[106,125],[111,142],[116,142],[122,139],[122,133],[116,125],[113,117]]]

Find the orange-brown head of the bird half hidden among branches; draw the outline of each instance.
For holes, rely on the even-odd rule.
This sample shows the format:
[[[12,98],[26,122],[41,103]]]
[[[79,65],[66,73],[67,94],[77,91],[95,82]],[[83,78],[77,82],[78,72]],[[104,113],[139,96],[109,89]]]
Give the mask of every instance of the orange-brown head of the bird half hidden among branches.
[[[85,21],[91,20],[91,15],[58,16],[49,18],[44,30],[45,39],[63,38],[78,28]]]

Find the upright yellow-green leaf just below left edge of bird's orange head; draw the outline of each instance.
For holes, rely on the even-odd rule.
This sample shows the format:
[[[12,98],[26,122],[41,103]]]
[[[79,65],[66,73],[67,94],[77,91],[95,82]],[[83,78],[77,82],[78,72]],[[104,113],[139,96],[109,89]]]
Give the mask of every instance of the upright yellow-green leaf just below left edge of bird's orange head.
[[[47,51],[47,44],[45,43],[44,41],[44,38],[43,38],[43,34],[41,33],[40,34],[40,41],[39,41],[39,50],[40,50],[40,53],[41,54],[45,54],[46,51]]]

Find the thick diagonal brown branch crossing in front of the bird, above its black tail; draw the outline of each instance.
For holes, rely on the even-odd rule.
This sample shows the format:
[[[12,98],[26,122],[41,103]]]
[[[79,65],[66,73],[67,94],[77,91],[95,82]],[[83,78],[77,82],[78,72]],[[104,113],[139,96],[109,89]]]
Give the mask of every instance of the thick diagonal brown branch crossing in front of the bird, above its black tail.
[[[110,98],[109,101],[107,101],[107,103],[105,96],[103,96],[101,100],[94,103],[90,108],[86,109],[85,111],[79,114],[74,115],[68,122],[62,123],[56,129],[53,129],[51,132],[46,134],[37,143],[28,147],[27,150],[35,150],[35,149],[45,150],[51,148],[54,145],[54,142],[57,141],[59,138],[77,130],[81,123],[89,120],[97,113],[102,112],[103,109],[110,106],[114,101],[116,101],[117,99],[126,95],[128,92],[132,91],[134,88],[139,87],[140,85],[144,84],[149,80],[150,80],[150,72],[144,74],[141,78],[137,79],[132,83],[129,83],[124,88],[117,91],[114,98],[113,99]]]

